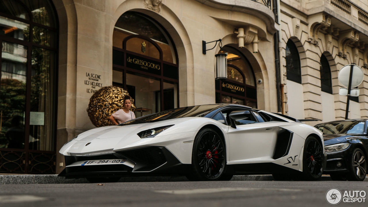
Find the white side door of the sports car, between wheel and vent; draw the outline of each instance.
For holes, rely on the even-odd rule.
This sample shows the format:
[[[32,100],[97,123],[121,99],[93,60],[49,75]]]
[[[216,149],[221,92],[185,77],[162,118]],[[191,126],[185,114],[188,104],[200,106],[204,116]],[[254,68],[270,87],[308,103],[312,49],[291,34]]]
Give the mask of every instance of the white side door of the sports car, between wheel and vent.
[[[236,129],[229,126],[230,162],[272,160],[279,127],[265,122],[256,112],[251,115],[250,119],[237,121]]]

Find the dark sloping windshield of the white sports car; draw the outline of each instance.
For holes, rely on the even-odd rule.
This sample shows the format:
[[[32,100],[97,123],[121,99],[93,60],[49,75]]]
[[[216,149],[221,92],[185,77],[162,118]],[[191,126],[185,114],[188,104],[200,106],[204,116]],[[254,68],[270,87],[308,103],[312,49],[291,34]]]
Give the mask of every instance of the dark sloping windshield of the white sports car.
[[[219,104],[212,105],[200,105],[200,106],[187,106],[176,109],[165,110],[158,113],[153,113],[150,115],[138,117],[137,119],[130,120],[128,122],[124,122],[121,125],[130,125],[130,124],[139,124],[139,123],[148,123],[148,122],[158,122],[162,120],[175,119],[181,117],[204,117],[208,114],[212,109],[218,107]]]

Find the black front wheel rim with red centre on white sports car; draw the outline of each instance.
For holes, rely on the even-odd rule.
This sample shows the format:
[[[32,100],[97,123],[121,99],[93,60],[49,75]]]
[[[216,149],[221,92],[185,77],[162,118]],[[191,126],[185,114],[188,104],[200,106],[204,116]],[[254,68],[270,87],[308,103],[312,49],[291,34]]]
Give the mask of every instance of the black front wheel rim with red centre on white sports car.
[[[217,134],[206,132],[198,141],[197,161],[206,178],[217,178],[224,168],[224,145]]]

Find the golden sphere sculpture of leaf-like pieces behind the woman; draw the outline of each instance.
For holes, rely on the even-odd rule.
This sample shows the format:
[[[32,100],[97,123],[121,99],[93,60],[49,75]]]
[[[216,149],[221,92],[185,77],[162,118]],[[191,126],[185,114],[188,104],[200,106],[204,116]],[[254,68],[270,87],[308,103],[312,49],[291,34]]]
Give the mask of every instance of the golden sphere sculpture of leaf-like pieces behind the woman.
[[[109,116],[117,110],[124,108],[124,96],[128,91],[116,86],[105,86],[96,91],[89,99],[87,113],[92,124],[96,127],[114,125]],[[132,99],[132,112],[135,110],[134,99]]]

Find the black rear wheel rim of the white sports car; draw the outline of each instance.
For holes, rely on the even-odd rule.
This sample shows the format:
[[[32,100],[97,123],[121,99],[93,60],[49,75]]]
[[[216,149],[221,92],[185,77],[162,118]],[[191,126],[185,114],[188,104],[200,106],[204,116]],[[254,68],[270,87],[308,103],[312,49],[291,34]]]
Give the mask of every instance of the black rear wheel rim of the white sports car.
[[[323,167],[323,151],[321,145],[315,140],[309,141],[307,145],[306,161],[309,172],[318,177]]]

